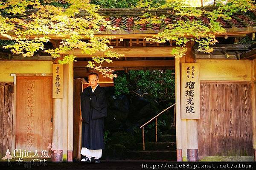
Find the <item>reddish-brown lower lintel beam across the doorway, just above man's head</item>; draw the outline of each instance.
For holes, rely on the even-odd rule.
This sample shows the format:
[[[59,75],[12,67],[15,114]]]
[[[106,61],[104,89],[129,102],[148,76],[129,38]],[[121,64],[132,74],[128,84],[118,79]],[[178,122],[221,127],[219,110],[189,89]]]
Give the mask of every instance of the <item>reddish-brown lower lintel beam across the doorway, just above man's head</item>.
[[[85,68],[88,61],[74,62],[74,70],[76,68]],[[173,67],[175,66],[174,60],[124,60],[113,61],[112,63],[102,63],[102,67]]]

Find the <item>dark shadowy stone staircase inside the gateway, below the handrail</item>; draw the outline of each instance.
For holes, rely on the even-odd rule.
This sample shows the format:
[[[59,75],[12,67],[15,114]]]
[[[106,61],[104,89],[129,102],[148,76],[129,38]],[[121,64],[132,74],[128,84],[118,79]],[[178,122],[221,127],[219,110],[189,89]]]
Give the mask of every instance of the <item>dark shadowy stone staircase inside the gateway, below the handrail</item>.
[[[154,141],[154,138],[147,141]],[[137,143],[133,150],[121,144],[110,144],[102,151],[102,161],[176,161],[176,130],[169,129],[157,136],[157,142]]]

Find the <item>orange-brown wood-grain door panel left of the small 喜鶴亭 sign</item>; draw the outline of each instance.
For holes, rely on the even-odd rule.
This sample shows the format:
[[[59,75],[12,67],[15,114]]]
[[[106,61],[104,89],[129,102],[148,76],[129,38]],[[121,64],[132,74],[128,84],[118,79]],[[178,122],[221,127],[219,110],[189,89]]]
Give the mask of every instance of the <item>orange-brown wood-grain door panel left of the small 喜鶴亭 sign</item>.
[[[17,77],[15,149],[41,152],[52,142],[52,77]]]

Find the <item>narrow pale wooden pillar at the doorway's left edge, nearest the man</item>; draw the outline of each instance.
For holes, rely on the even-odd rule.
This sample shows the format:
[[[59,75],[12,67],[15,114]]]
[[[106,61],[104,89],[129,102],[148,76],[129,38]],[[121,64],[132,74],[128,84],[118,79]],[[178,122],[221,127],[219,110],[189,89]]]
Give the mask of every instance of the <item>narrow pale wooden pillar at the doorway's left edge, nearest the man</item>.
[[[67,161],[73,161],[73,108],[74,108],[74,71],[73,62],[68,64],[68,150]]]

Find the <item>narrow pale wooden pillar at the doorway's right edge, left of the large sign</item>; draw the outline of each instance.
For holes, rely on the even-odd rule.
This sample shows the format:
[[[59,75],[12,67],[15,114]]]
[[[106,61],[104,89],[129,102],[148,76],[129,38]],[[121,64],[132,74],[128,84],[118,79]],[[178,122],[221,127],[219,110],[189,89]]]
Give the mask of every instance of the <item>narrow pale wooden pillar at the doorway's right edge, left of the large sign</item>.
[[[180,58],[175,57],[175,124],[177,161],[182,161],[182,132],[181,132],[181,97],[180,97]]]

